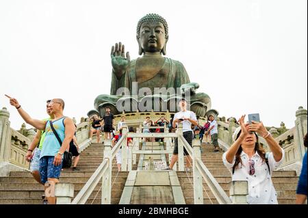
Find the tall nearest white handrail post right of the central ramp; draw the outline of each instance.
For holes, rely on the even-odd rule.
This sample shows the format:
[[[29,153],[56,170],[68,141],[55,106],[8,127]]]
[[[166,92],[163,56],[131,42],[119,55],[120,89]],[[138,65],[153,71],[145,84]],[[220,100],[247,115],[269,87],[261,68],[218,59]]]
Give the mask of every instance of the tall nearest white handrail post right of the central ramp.
[[[199,136],[192,141],[194,156],[192,156],[192,170],[194,176],[194,204],[203,204],[203,178],[196,167],[196,160],[201,159],[201,141]]]

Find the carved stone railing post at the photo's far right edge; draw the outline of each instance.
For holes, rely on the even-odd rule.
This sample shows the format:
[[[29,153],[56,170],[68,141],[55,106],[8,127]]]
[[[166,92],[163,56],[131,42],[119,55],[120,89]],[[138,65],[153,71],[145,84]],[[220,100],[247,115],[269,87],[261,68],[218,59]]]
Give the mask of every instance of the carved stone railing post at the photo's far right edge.
[[[307,110],[303,109],[303,107],[298,107],[296,111],[296,144],[298,145],[298,151],[300,153],[300,158],[303,159],[307,148],[304,146],[304,137],[307,133]]]

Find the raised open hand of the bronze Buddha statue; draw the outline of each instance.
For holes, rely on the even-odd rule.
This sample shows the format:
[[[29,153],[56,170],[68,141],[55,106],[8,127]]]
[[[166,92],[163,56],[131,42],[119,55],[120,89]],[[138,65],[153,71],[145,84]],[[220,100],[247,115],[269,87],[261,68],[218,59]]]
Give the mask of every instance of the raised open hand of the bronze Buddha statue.
[[[116,43],[115,46],[112,46],[111,51],[112,58],[112,68],[116,77],[120,79],[122,75],[125,73],[125,70],[129,66],[129,62],[131,61],[131,57],[129,57],[129,52],[126,53],[125,57],[125,46],[121,42]]]

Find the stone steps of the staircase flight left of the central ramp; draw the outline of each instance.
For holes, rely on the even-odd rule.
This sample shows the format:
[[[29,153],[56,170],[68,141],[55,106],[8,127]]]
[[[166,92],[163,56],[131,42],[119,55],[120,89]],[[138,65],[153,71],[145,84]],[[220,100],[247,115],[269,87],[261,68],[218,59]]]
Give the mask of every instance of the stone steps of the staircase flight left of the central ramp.
[[[64,169],[60,182],[74,184],[75,193],[84,187],[90,176],[103,161],[103,144],[92,143],[81,152],[77,167],[80,171]],[[118,204],[128,172],[118,172],[116,161],[112,168],[112,204]],[[101,204],[101,182],[95,187],[86,204]],[[42,204],[44,187],[39,185],[29,172],[10,172],[8,177],[0,177],[0,204]]]

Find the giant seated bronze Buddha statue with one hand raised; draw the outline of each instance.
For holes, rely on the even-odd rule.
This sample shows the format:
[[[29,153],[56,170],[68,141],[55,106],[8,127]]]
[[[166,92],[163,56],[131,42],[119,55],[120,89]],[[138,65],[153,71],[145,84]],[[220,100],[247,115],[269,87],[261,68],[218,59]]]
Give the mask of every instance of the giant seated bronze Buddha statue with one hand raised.
[[[196,93],[199,85],[190,83],[181,62],[163,56],[166,55],[168,42],[165,19],[157,14],[147,14],[138,22],[136,38],[139,55],[142,55],[137,59],[130,60],[129,52],[125,53],[125,46],[121,42],[112,46],[110,95],[97,96],[94,100],[95,110],[89,111],[88,115],[97,113],[102,116],[105,107],[109,107],[114,114],[152,109],[177,112],[177,100],[189,96],[190,110],[205,117],[211,109],[209,96]],[[159,88],[166,88],[167,92],[157,94]],[[216,110],[211,111],[218,113]]]

